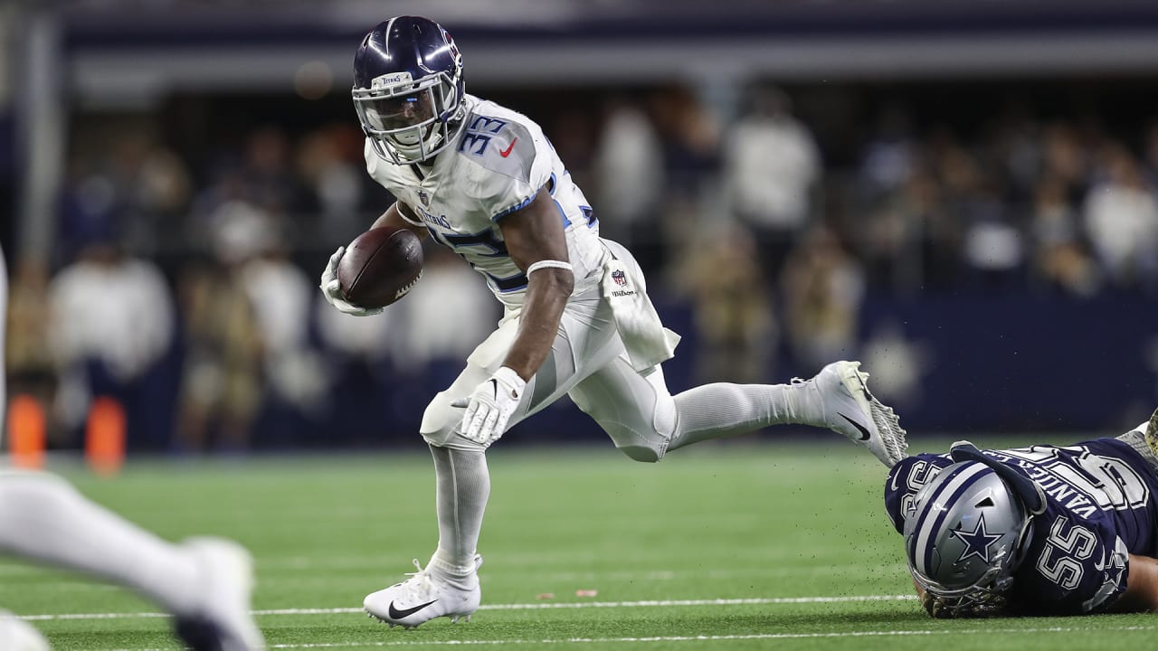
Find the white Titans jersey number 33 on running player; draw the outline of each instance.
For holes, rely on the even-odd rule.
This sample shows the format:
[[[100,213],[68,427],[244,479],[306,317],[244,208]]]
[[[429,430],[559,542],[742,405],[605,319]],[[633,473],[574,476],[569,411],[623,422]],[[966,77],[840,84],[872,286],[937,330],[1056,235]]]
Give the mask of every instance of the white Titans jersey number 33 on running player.
[[[367,139],[366,170],[423,219],[437,242],[482,273],[508,308],[522,305],[527,276],[507,254],[499,221],[530,203],[544,185],[563,221],[576,279],[596,277],[609,255],[599,239],[599,222],[542,129],[494,102],[472,95],[464,102],[466,126],[433,164],[382,160]]]

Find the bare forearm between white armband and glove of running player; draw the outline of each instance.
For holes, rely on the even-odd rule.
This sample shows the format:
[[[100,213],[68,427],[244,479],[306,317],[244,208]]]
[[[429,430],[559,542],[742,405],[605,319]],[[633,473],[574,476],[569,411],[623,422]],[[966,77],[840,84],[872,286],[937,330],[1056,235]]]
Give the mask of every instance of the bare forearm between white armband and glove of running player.
[[[519,334],[503,361],[523,380],[530,380],[551,352],[573,286],[570,271],[541,269],[530,275]]]

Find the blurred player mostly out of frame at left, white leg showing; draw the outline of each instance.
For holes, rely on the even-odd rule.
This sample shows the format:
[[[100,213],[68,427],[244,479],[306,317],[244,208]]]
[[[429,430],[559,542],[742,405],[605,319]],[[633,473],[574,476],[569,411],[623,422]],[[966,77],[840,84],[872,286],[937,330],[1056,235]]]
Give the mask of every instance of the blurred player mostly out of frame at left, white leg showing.
[[[0,249],[0,343],[7,306]],[[7,395],[3,370],[0,345],[0,423]],[[56,475],[3,465],[0,455],[0,554],[131,587],[173,613],[177,637],[195,651],[265,648],[249,614],[252,562],[241,546],[214,537],[171,544],[86,499]],[[23,620],[0,610],[0,649],[46,651],[49,643]]]

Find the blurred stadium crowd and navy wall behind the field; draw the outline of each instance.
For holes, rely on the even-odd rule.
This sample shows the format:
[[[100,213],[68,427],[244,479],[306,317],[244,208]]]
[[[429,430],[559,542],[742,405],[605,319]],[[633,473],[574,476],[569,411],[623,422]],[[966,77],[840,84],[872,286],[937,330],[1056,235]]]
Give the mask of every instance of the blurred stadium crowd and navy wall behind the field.
[[[360,36],[440,21],[543,125],[683,343],[673,390],[865,361],[910,439],[1105,432],[1158,404],[1158,7],[530,0],[0,8],[8,390],[74,449],[418,446],[498,319],[430,253],[387,314],[316,278],[389,205]],[[603,434],[570,403],[504,445]]]

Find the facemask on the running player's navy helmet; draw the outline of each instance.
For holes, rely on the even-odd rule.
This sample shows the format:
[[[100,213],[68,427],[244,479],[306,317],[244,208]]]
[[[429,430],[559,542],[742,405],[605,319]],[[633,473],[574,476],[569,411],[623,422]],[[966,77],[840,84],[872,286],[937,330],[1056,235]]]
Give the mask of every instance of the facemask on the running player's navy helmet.
[[[464,111],[457,80],[440,72],[413,81],[409,73],[375,78],[354,88],[354,109],[374,152],[395,164],[425,161],[459,134]]]

